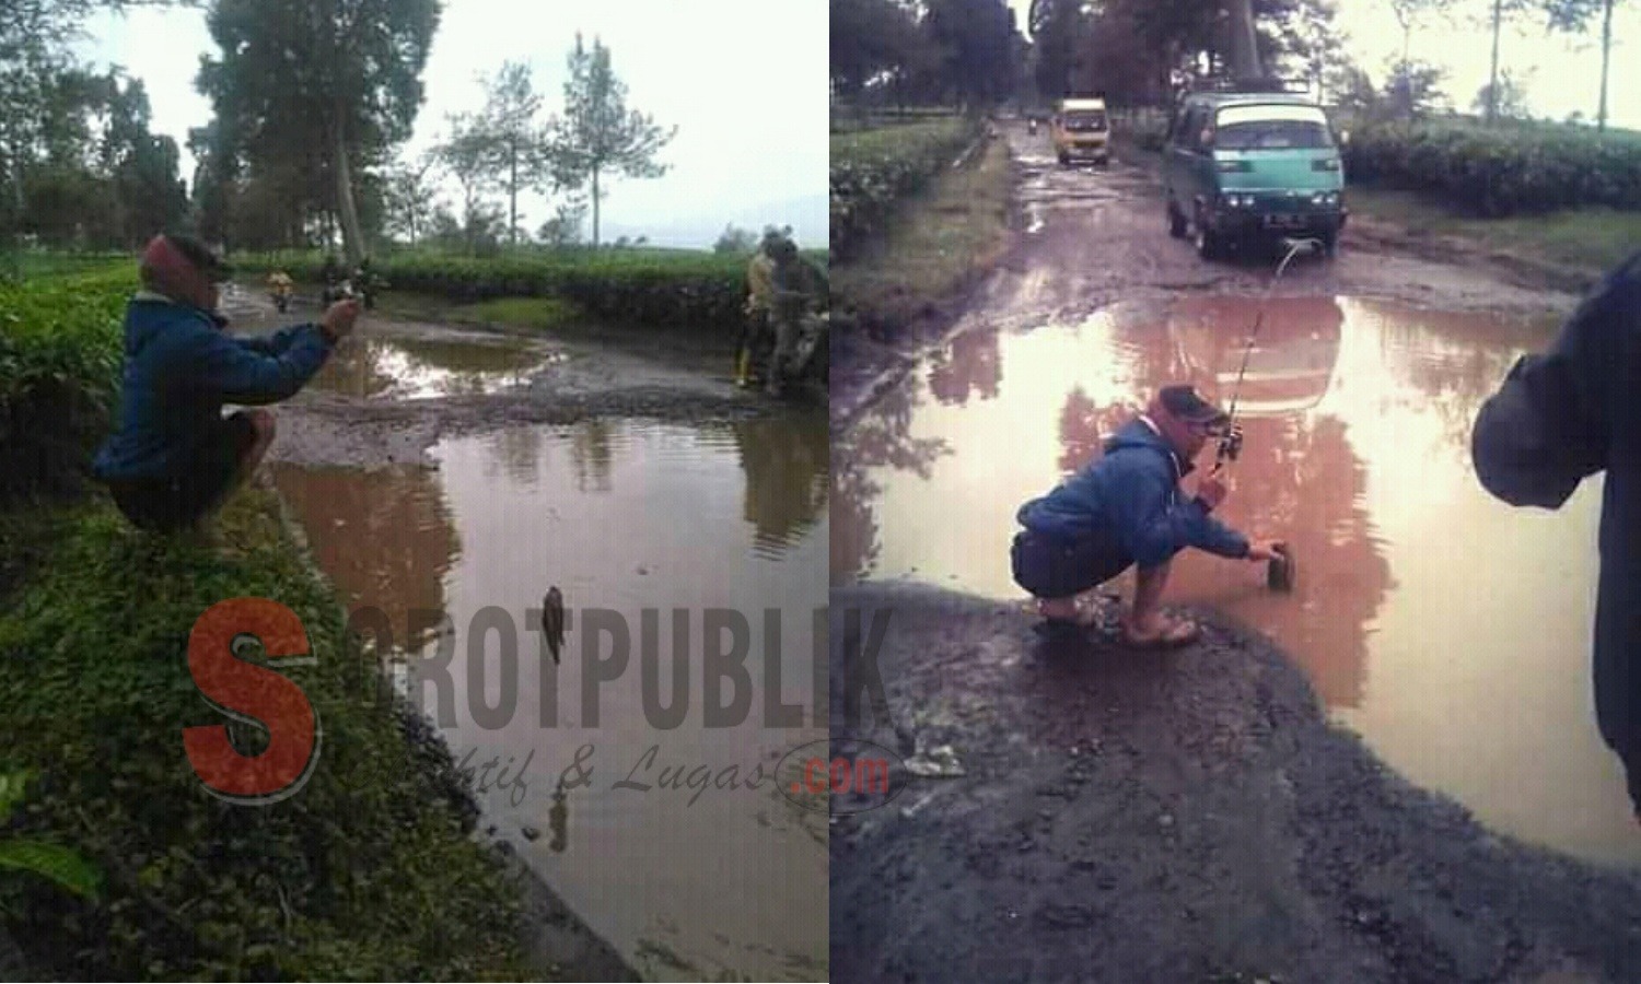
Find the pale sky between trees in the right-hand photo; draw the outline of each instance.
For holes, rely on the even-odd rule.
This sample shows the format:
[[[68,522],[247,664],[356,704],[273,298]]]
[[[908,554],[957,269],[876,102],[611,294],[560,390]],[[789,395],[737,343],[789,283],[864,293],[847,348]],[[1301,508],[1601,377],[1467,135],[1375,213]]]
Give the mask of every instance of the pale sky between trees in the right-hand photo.
[[[1021,31],[1027,30],[1031,0],[1009,0]],[[1459,0],[1456,13],[1429,18],[1413,33],[1408,57],[1447,69],[1442,84],[1456,108],[1469,112],[1477,90],[1487,84],[1492,33],[1483,21],[1490,0]],[[1401,56],[1401,28],[1385,0],[1339,0],[1337,25],[1347,34],[1346,51],[1375,82],[1385,79],[1385,61]],[[1593,120],[1602,85],[1600,21],[1587,36],[1544,33],[1543,16],[1506,23],[1498,41],[1498,66],[1518,74],[1534,116],[1564,120],[1579,110]],[[1615,126],[1641,130],[1641,5],[1620,3],[1613,10],[1613,49],[1607,82],[1607,115]]]

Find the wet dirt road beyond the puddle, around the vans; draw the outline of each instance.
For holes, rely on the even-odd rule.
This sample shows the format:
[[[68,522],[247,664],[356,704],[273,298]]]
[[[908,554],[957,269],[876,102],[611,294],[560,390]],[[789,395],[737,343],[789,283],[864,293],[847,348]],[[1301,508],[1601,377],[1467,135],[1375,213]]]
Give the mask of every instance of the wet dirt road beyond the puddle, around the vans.
[[[1016,172],[1016,244],[957,312],[930,310],[896,338],[842,338],[832,348],[832,418],[847,423],[906,372],[927,346],[971,328],[1075,323],[1114,302],[1162,303],[1190,294],[1264,292],[1267,257],[1204,264],[1172,239],[1162,189],[1122,157],[1109,169],[1060,167],[1047,131],[1003,125]],[[1275,297],[1354,295],[1444,310],[1570,310],[1567,277],[1500,262],[1452,243],[1429,243],[1352,220],[1332,262],[1295,262]]]

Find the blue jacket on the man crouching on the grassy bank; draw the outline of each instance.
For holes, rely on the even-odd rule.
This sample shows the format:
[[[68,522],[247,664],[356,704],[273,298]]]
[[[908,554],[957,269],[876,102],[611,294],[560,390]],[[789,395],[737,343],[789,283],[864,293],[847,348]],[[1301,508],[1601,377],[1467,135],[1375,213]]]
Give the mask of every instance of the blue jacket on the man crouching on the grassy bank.
[[[277,403],[318,372],[331,344],[317,325],[235,338],[195,307],[143,292],[125,312],[120,423],[97,477],[164,477],[222,418],[223,403]]]

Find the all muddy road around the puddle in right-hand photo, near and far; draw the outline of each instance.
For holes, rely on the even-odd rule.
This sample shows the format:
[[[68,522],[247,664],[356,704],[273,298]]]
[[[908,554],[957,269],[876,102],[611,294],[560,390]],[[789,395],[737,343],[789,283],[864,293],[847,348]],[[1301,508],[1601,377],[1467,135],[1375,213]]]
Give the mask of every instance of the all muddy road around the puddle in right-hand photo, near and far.
[[[1144,172],[1060,172],[1040,139],[1006,138],[1021,157],[1021,243],[953,331],[1264,289],[1267,264],[1204,266],[1168,239]],[[1518,272],[1375,243],[1347,235],[1334,264],[1290,269],[1278,294],[1447,310],[1574,302]],[[929,341],[857,348],[845,380],[835,361],[834,426]],[[850,608],[893,610],[876,661],[888,718],[870,700],[845,715],[865,682],[845,664]],[[1131,653],[1042,638],[1014,604],[834,589],[834,753],[950,745],[965,771],[834,815],[834,979],[1636,979],[1641,872],[1493,836],[1331,727],[1265,640],[1195,615],[1201,643]],[[1510,723],[1479,710],[1474,727]]]

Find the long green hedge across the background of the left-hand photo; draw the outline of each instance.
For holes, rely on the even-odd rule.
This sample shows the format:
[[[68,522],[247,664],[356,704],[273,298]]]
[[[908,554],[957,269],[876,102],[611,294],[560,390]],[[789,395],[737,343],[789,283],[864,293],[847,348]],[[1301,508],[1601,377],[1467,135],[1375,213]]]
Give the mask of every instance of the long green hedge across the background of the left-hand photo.
[[[284,269],[318,280],[323,256],[240,254],[246,271]],[[420,290],[463,303],[496,297],[563,297],[617,323],[740,331],[748,256],[671,249],[609,249],[466,257],[400,253],[373,261],[389,290]]]

